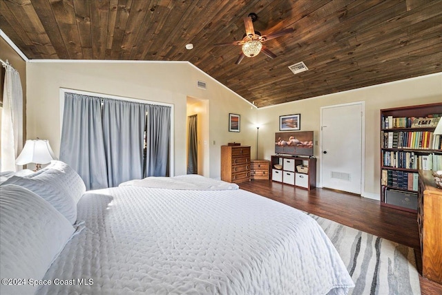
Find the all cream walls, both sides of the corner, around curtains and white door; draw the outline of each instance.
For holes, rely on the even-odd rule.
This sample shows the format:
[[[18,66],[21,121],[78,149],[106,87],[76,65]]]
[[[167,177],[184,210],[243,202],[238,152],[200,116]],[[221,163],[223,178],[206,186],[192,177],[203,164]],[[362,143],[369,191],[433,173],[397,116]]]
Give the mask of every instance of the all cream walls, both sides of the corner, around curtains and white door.
[[[207,90],[196,87],[197,80]],[[27,63],[27,138],[50,140],[59,153],[59,88],[104,93],[175,105],[175,175],[186,173],[186,98],[209,101],[209,177],[220,177],[220,146],[241,142],[256,155],[256,125],[260,125],[258,158],[270,159],[280,115],[301,114],[301,131],[315,131],[315,156],[320,182],[320,107],[365,102],[365,191],[379,198],[379,110],[442,102],[442,73],[380,84],[354,91],[302,99],[258,110],[187,62],[30,62]],[[241,132],[228,132],[229,113],[241,115]],[[213,144],[215,143],[215,144]],[[254,156],[252,158],[255,158]],[[206,175],[206,169],[204,169]]]

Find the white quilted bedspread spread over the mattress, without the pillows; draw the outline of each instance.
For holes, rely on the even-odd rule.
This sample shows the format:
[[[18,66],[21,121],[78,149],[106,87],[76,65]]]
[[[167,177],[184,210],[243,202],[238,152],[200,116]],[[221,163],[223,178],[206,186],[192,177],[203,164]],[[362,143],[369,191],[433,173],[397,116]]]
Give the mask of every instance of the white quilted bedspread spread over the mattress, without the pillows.
[[[86,229],[44,277],[66,284],[38,294],[318,295],[354,285],[313,218],[240,189],[90,191],[77,218]]]

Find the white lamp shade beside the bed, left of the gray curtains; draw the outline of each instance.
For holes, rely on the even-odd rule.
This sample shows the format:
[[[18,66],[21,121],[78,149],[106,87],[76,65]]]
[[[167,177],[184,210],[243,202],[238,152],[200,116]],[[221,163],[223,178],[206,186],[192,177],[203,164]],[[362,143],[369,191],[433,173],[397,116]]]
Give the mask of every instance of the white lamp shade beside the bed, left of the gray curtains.
[[[48,140],[26,140],[23,151],[15,160],[17,165],[28,163],[48,164],[51,160],[55,160],[54,152],[50,148]]]

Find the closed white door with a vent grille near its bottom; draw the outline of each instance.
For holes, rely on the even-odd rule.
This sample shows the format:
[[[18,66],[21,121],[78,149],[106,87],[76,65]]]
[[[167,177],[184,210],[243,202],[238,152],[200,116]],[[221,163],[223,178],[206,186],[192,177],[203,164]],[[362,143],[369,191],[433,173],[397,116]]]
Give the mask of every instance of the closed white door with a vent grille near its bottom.
[[[361,194],[363,120],[363,102],[321,108],[323,187]]]

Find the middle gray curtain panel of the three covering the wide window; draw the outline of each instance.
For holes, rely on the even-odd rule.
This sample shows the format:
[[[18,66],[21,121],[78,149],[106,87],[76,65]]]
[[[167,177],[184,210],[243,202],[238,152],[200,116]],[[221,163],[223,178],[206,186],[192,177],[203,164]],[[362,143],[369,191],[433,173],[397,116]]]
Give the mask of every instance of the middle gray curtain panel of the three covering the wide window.
[[[109,187],[143,176],[147,104],[103,99],[104,150]]]

